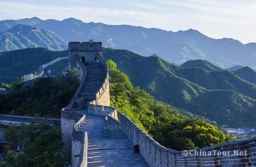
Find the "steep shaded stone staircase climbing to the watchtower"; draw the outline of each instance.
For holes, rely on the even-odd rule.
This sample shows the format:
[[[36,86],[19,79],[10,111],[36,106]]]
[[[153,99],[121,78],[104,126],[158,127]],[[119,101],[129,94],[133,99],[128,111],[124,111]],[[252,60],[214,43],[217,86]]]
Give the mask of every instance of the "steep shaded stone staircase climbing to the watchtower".
[[[85,69],[86,77],[78,97],[85,98],[84,108],[87,109],[89,102],[95,100],[94,95],[102,86],[106,72],[101,64],[98,66],[85,66]]]

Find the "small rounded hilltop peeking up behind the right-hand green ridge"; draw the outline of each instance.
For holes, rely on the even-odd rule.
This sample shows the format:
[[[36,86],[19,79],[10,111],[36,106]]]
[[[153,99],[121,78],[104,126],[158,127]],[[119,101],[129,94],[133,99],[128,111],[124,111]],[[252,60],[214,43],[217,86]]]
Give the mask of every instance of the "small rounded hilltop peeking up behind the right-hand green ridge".
[[[189,60],[181,64],[180,67],[199,67],[208,71],[223,70],[220,67],[213,65],[207,60]]]

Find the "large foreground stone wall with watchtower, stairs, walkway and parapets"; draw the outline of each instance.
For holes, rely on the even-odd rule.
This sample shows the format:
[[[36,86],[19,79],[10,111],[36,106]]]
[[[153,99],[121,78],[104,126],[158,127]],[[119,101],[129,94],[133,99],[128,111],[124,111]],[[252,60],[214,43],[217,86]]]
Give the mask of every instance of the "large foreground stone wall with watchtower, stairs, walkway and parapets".
[[[127,116],[110,105],[108,66],[101,42],[70,42],[69,69],[78,69],[80,85],[61,110],[64,151],[72,167],[244,167],[256,166],[256,138],[220,146],[192,149],[211,155],[183,156],[182,151],[157,143]],[[139,153],[134,153],[134,145]],[[247,155],[218,155],[215,151],[247,151]]]

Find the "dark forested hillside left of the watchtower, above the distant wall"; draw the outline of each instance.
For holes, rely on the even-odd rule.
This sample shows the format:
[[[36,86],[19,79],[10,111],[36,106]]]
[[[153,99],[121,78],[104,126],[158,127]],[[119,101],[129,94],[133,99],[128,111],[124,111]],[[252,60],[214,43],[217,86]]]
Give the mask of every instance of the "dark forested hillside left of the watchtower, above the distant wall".
[[[0,52],[0,83],[9,84],[17,77],[21,78],[25,74],[34,73],[41,64],[65,56],[67,56],[66,51],[55,52],[45,48]]]

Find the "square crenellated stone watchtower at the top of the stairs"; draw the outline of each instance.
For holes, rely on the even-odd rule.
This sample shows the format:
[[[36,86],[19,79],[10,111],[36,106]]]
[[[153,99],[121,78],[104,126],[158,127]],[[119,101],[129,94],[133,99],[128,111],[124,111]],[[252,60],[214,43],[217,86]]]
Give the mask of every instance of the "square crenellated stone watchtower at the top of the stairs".
[[[69,70],[76,68],[76,56],[80,58],[84,66],[94,65],[102,56],[102,43],[95,42],[69,42]]]

